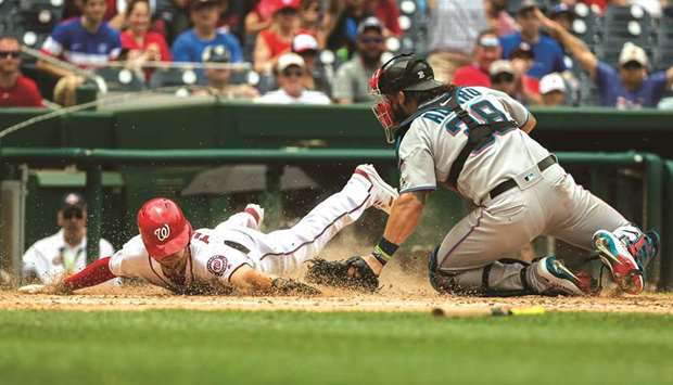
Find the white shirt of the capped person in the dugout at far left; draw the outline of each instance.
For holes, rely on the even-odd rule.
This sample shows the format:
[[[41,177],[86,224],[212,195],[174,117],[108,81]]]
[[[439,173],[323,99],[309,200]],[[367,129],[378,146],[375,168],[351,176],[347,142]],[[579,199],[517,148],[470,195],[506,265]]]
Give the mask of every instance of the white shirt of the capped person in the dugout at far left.
[[[100,239],[99,257],[114,253],[110,242]],[[37,241],[23,256],[24,275],[34,272],[42,283],[52,283],[63,274],[76,273],[87,265],[87,238],[71,246],[63,239],[63,229],[58,233]]]

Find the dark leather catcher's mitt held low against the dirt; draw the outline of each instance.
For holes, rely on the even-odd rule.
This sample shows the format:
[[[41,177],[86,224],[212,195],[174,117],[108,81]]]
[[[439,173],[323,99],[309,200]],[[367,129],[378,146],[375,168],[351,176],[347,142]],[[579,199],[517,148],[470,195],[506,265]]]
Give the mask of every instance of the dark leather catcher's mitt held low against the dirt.
[[[325,260],[315,258],[308,261],[310,266],[306,272],[306,281],[319,285],[355,288],[374,292],[379,287],[379,278],[360,256],[346,260]],[[348,275],[348,270],[355,269],[355,277]]]

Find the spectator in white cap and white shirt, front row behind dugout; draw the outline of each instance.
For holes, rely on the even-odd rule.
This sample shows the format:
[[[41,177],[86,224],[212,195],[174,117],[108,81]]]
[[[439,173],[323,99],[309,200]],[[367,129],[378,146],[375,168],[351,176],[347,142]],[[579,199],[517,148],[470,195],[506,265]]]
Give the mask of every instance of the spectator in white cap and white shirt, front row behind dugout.
[[[306,65],[296,53],[285,53],[278,57],[278,84],[280,89],[267,92],[257,99],[267,104],[330,104],[330,99],[322,92],[309,91],[302,84]]]

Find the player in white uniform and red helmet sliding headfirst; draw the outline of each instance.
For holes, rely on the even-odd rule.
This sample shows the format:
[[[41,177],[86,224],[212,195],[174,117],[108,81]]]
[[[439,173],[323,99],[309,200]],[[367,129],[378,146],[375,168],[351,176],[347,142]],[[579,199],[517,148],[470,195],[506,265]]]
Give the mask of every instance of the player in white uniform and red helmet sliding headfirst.
[[[140,278],[180,294],[319,294],[297,281],[278,278],[316,256],[345,226],[369,207],[390,213],[397,191],[371,165],[360,165],[346,185],[294,227],[259,231],[264,209],[247,205],[215,229],[192,230],[173,201],[153,198],[138,211],[140,234],[112,257],[92,262],[55,285],[25,286],[28,293],[69,293],[115,277]]]

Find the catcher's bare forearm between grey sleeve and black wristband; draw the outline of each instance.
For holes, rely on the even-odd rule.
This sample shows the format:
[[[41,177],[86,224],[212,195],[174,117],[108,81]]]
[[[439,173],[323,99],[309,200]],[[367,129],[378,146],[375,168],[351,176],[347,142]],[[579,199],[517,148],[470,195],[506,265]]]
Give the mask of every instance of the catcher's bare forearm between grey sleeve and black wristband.
[[[396,245],[403,244],[416,231],[423,207],[424,201],[416,194],[399,195],[385,224],[383,238]]]

